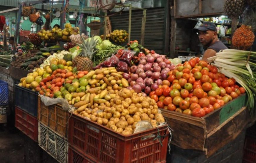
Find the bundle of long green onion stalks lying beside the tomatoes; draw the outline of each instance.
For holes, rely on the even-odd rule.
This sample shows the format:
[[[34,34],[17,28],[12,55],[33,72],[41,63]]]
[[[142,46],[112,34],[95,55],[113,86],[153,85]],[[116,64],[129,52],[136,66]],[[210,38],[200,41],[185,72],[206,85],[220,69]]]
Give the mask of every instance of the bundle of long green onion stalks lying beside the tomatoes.
[[[219,68],[220,73],[229,78],[234,78],[237,83],[245,88],[248,97],[247,108],[250,111],[251,117],[255,117],[256,52],[225,49],[207,60]]]

